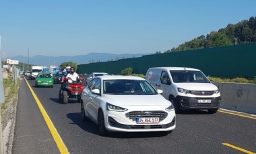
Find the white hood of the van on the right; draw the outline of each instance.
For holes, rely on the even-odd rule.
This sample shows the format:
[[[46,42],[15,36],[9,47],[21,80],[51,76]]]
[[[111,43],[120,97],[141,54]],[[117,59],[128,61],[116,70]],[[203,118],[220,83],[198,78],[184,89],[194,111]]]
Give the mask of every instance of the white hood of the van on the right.
[[[177,88],[186,90],[212,91],[217,90],[217,86],[212,83],[176,83]]]

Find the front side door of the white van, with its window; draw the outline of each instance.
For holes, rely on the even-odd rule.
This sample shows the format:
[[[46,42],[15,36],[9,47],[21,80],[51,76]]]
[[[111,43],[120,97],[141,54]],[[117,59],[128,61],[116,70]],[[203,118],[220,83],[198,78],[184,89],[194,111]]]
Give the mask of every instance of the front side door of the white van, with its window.
[[[162,70],[160,76],[160,88],[162,89],[162,96],[168,99],[170,95],[170,76],[167,71]]]

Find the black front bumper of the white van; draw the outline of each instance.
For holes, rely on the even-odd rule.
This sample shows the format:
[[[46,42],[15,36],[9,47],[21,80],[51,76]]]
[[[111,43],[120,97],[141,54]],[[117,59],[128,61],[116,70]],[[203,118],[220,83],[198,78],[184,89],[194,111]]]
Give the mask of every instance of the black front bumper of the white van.
[[[211,102],[201,103],[199,100],[210,100]],[[217,109],[220,108],[220,96],[218,97],[186,97],[177,96],[175,102],[181,110],[186,109]]]

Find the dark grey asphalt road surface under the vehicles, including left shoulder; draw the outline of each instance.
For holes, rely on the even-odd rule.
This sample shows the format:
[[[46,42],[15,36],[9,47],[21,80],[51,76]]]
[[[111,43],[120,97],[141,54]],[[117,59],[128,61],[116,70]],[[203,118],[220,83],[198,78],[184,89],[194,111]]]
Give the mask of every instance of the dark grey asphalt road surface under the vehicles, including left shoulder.
[[[177,128],[168,135],[111,133],[101,137],[94,123],[81,121],[76,100],[59,103],[58,84],[35,88],[34,80],[28,82],[69,153],[242,153],[222,143],[256,153],[256,119],[187,111],[177,114]],[[13,153],[59,153],[25,80],[20,86]]]

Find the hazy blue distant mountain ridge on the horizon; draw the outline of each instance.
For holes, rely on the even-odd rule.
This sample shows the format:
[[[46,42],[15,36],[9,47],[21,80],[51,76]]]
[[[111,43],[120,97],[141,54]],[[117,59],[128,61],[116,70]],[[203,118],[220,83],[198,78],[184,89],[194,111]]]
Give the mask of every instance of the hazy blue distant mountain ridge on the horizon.
[[[120,60],[124,58],[137,58],[148,54],[108,54],[108,53],[90,53],[78,56],[33,56],[29,60],[29,64],[40,66],[59,66],[63,62],[76,62],[77,64],[88,64],[91,62],[106,62],[108,60]],[[11,60],[19,60],[19,62],[28,63],[26,56],[13,56]]]

